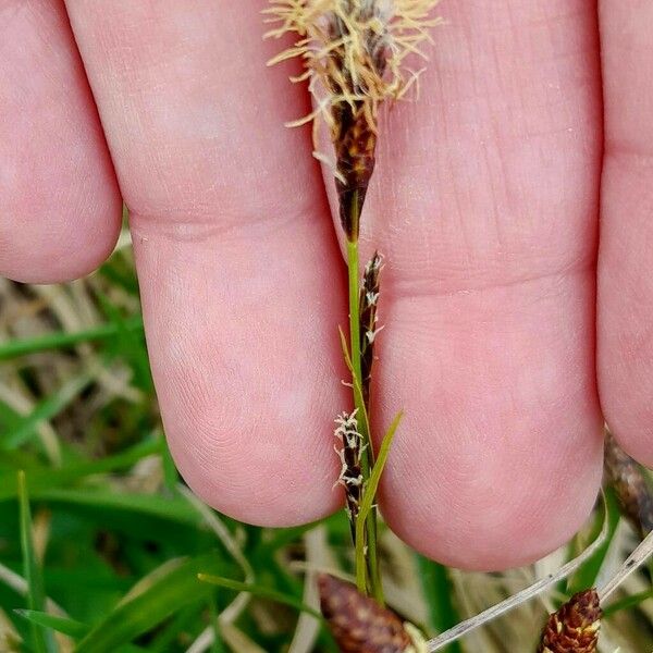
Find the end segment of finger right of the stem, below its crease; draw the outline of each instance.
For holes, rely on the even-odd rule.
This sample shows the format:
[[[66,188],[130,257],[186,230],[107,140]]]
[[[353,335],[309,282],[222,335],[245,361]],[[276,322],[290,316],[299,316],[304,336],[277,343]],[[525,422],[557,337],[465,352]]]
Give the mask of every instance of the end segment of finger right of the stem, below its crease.
[[[550,553],[588,516],[602,460],[593,345],[584,329],[568,329],[591,320],[588,278],[390,309],[383,412],[387,421],[404,407],[407,418],[383,505],[416,549],[454,566],[505,568]]]

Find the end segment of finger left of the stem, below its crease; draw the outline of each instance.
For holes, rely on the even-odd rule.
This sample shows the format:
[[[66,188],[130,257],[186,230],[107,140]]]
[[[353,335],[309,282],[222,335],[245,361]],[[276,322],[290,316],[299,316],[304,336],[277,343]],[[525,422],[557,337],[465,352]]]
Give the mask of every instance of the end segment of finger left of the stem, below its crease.
[[[346,402],[343,279],[338,268],[324,283],[328,230],[264,223],[219,247],[135,230],[171,451],[207,503],[251,523],[310,521],[342,500],[331,424]]]

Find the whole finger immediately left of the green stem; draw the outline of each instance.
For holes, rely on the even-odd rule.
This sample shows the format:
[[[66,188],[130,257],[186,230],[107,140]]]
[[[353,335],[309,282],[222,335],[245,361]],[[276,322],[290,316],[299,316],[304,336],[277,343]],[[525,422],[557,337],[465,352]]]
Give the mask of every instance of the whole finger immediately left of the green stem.
[[[67,2],[131,210],[175,460],[222,512],[289,525],[340,501],[343,275],[310,134],[283,126],[308,98],[266,69],[280,46],[260,9]]]

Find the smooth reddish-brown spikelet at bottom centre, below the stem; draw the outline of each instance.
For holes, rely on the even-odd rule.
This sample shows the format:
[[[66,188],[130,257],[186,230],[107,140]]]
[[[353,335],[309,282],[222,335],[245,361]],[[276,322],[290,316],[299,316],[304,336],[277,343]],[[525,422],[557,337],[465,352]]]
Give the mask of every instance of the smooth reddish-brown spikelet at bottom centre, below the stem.
[[[352,583],[321,574],[318,584],[322,614],[343,653],[417,652],[402,620]]]

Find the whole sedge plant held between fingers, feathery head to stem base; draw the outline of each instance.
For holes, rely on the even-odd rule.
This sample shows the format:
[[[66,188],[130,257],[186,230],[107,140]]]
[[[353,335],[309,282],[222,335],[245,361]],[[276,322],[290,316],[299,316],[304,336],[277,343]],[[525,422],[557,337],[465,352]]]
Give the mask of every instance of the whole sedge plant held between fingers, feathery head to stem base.
[[[417,75],[405,64],[409,54],[426,54],[420,46],[439,23],[431,15],[438,0],[271,0],[267,10],[275,27],[270,37],[295,36],[293,46],[270,63],[299,58],[304,72],[294,82],[307,83],[313,111],[292,126],[313,122],[333,145],[332,170],[345,236],[348,279],[348,340],[343,352],[352,374],[354,408],[336,420],[336,436],[347,514],[356,547],[358,590],[383,605],[377,556],[377,509],[370,478],[375,456],[370,422],[373,344],[380,331],[377,306],[382,258],[375,252],[359,267],[359,234],[366,195],[375,165],[379,112],[386,100],[402,98]],[[331,157],[317,153],[321,160]],[[342,334],[341,334],[342,335]],[[393,429],[394,431],[394,429]],[[392,438],[392,434],[389,433]],[[360,510],[368,495],[369,514]]]

